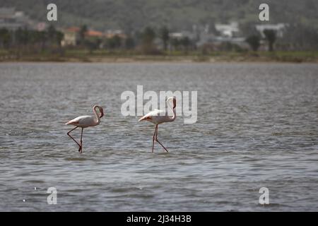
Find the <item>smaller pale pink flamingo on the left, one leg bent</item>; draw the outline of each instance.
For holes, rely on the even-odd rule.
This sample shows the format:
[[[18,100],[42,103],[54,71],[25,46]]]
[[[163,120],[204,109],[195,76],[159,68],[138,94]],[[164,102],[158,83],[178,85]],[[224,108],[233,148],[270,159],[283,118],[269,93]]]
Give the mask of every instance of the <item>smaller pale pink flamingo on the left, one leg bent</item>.
[[[100,111],[100,115],[96,112],[96,109],[98,108],[98,110]],[[93,116],[89,116],[89,115],[83,115],[80,117],[77,117],[75,119],[72,119],[68,122],[66,122],[66,125],[72,125],[72,126],[76,126],[74,129],[81,127],[82,131],[81,131],[81,144],[79,144],[69,133],[71,133],[71,131],[73,131],[74,129],[71,129],[67,135],[72,138],[73,141],[75,141],[75,143],[77,143],[77,145],[79,146],[78,152],[82,153],[82,137],[83,137],[83,129],[86,127],[90,127],[90,126],[97,126],[98,124],[100,124],[100,118],[104,116],[104,110],[102,109],[102,107],[98,106],[98,105],[94,105],[93,107],[93,112],[95,113],[95,117]]]

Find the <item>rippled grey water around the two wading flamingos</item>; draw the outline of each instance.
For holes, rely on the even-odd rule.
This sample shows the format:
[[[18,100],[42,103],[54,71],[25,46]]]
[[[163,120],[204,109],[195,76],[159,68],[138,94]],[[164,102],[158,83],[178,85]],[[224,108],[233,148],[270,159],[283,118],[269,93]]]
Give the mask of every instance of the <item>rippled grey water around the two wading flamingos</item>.
[[[317,64],[0,64],[0,210],[317,211],[317,72]],[[196,124],[159,126],[170,153],[160,145],[151,153],[153,124],[120,114],[121,93],[136,85],[198,91]],[[105,117],[84,129],[80,155],[64,123],[94,104]],[[52,186],[57,205],[47,204]]]

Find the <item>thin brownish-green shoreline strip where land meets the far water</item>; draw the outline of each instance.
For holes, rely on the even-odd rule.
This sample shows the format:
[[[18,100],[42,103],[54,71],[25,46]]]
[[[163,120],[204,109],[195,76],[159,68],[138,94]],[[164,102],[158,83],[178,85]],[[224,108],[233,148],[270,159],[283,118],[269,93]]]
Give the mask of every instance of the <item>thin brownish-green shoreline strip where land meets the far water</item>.
[[[314,56],[279,56],[279,55],[220,55],[220,56],[171,56],[171,55],[79,55],[79,56],[57,56],[57,55],[35,55],[22,56],[20,58],[3,56],[0,57],[0,64],[3,63],[293,63],[293,64],[318,64],[318,57]]]

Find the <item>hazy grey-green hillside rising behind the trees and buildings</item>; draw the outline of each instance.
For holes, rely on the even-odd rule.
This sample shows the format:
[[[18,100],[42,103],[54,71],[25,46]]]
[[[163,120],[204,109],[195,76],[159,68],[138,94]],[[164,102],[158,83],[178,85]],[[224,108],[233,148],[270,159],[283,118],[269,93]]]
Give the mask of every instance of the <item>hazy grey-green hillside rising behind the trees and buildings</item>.
[[[190,29],[193,24],[260,23],[263,0],[0,0],[0,7],[15,7],[30,18],[46,20],[47,4],[58,7],[58,27],[87,24],[98,30],[126,32],[152,25],[172,30]],[[318,28],[318,1],[267,0],[270,23],[301,23]],[[264,22],[262,22],[264,23]]]

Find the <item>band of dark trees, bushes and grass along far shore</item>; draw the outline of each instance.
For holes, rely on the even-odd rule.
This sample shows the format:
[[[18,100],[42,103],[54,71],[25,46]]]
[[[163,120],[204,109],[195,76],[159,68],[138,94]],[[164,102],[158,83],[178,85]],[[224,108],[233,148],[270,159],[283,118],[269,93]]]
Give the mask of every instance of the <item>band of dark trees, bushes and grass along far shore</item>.
[[[85,29],[84,29],[85,28]],[[83,26],[78,33],[86,30]],[[164,28],[165,29],[165,28]],[[221,44],[204,44],[200,47],[189,37],[164,37],[164,29],[155,30],[146,27],[134,35],[121,37],[114,35],[108,38],[88,37],[86,32],[79,35],[78,45],[61,47],[63,34],[53,25],[45,31],[18,29],[9,31],[0,29],[0,61],[116,61],[130,60],[160,60],[160,61],[314,61],[318,62],[318,51],[278,51],[283,49],[281,39],[276,38],[275,32],[264,31],[269,50],[273,50],[273,44],[277,41],[276,52],[257,52],[260,46],[260,37],[250,35],[246,42],[254,53],[243,49],[237,44],[223,42]],[[312,34],[308,32],[308,34]],[[82,37],[81,37],[82,36]],[[160,44],[155,44],[155,38],[166,43],[160,49]],[[312,34],[312,38],[317,35]],[[287,44],[289,42],[286,42]],[[301,40],[302,46],[305,41]],[[293,42],[294,45],[297,42]],[[317,43],[316,43],[317,44]],[[257,52],[257,53],[256,53]],[[148,57],[144,57],[148,55]],[[151,55],[151,56],[149,56]]]

